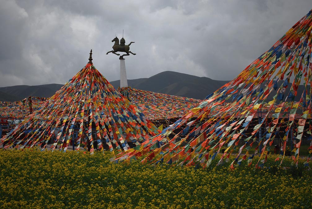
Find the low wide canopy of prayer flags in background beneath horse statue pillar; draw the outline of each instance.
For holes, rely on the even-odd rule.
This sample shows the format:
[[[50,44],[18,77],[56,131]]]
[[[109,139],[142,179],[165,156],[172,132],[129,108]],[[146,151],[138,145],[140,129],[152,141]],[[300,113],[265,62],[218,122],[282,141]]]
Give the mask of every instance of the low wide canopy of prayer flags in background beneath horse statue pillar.
[[[189,109],[192,109],[201,101],[131,87],[118,88],[117,91],[129,99],[150,120],[182,117]],[[31,102],[29,99],[31,99]],[[48,98],[28,97],[17,102],[0,102],[0,116],[10,117],[11,119],[24,119],[30,114],[31,108],[33,111],[37,110],[46,100]]]

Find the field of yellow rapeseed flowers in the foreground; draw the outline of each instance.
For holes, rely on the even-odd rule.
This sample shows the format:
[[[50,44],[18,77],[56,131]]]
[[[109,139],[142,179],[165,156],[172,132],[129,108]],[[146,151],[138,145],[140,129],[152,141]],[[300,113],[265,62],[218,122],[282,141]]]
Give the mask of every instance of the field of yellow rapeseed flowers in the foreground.
[[[311,208],[309,167],[243,161],[203,169],[138,161],[109,152],[0,150],[1,208]],[[234,157],[233,157],[234,158]],[[255,161],[257,157],[255,157]],[[233,159],[232,159],[233,161]]]

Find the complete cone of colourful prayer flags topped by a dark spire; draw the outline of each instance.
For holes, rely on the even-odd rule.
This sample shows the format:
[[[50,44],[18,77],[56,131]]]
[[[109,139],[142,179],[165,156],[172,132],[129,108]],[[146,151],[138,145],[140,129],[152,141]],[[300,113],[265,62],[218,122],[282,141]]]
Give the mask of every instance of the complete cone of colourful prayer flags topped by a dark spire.
[[[104,142],[111,151],[113,145],[125,151],[129,148],[127,141],[139,145],[158,134],[158,128],[120,95],[91,61],[90,53],[89,63],[4,136],[0,145],[4,148],[41,145],[45,149],[51,143],[51,150],[59,145],[66,151],[75,141],[76,149],[84,144],[92,153],[96,140],[98,148]]]

